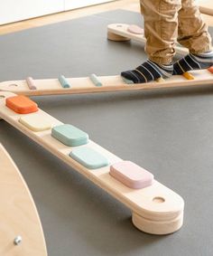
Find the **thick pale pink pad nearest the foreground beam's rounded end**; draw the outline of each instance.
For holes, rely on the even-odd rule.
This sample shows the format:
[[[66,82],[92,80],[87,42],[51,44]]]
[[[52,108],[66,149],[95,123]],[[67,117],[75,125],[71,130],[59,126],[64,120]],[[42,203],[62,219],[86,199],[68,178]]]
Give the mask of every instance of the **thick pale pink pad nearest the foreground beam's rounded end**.
[[[110,166],[110,175],[131,188],[144,188],[153,184],[153,174],[131,161],[122,161]]]

